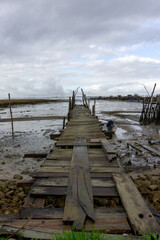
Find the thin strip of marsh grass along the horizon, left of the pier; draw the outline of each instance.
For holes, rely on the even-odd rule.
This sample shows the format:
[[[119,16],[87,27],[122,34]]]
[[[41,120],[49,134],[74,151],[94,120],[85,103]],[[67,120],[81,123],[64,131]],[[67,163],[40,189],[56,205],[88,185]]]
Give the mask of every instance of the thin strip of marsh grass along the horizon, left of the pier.
[[[38,104],[38,103],[49,103],[49,102],[68,102],[67,99],[12,99],[10,103],[16,104]],[[0,107],[7,107],[9,100],[0,100]]]

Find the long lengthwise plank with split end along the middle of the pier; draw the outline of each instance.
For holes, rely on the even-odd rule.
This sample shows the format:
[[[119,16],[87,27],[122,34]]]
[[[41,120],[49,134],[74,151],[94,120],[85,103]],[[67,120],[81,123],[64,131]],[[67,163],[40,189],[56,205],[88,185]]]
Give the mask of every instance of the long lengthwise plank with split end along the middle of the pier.
[[[93,193],[85,138],[76,138],[71,160],[63,222],[82,229],[86,216],[93,221]]]

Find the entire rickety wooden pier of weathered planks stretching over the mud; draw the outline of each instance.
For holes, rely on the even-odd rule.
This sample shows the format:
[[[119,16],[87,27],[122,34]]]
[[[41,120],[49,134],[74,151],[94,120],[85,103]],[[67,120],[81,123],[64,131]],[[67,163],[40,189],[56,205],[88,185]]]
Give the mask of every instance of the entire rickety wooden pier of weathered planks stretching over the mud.
[[[84,93],[83,105],[75,105],[73,94],[69,109],[69,121],[53,152],[32,173],[34,181],[22,210],[1,215],[0,231],[43,239],[73,228],[134,235],[148,233],[149,228],[159,233],[156,219],[91,115]],[[64,197],[64,205],[48,207],[48,197]]]

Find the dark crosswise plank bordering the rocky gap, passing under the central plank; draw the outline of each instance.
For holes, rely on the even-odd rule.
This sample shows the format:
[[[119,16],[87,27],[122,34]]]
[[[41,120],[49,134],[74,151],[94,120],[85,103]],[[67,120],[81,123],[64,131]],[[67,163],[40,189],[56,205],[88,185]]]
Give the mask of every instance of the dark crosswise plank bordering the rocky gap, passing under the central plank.
[[[118,197],[115,187],[93,187],[93,196],[95,197]],[[65,196],[67,187],[34,186],[30,192],[32,197],[44,196]]]

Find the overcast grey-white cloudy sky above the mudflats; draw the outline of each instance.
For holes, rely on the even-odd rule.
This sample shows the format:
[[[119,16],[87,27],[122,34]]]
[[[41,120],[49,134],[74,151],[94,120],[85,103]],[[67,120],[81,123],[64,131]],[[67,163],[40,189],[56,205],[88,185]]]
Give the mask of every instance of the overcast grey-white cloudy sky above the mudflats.
[[[160,93],[160,1],[0,0],[0,98]]]

